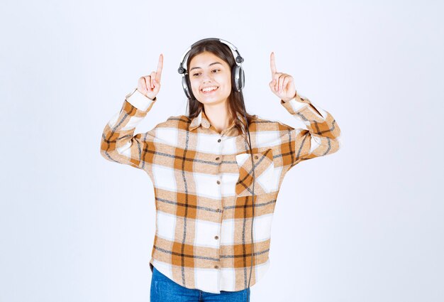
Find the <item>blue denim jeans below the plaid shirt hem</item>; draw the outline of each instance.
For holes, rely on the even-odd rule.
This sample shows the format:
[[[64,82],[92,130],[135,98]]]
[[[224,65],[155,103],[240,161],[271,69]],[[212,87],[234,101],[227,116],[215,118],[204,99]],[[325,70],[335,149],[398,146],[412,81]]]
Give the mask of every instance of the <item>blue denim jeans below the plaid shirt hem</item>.
[[[248,296],[248,300],[247,300]],[[250,302],[250,288],[243,291],[221,291],[208,293],[199,289],[186,288],[153,267],[151,276],[150,302],[199,302],[199,301],[231,301]]]

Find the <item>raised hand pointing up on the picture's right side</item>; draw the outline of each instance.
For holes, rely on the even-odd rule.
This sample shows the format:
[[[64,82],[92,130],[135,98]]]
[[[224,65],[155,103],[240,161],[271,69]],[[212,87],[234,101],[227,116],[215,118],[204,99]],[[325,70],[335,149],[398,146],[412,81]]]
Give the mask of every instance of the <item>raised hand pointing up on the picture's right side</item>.
[[[270,66],[272,68],[272,81],[269,85],[274,95],[277,95],[284,102],[294,98],[296,96],[296,87],[294,86],[293,77],[287,73],[276,71],[273,52],[270,55]]]

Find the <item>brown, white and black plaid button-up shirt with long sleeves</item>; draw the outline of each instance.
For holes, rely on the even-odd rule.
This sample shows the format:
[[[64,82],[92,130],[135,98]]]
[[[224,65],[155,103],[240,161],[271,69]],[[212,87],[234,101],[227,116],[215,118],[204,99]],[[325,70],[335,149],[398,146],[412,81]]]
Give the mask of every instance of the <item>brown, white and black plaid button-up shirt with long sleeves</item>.
[[[187,288],[210,293],[243,290],[252,252],[247,134],[239,133],[234,124],[219,133],[202,111],[194,119],[169,117],[134,135],[135,126],[156,101],[137,89],[126,95],[101,137],[104,158],[142,169],[154,185],[156,230],[150,269],[155,266]],[[308,130],[266,119],[250,124],[256,177],[250,286],[270,265],[272,217],[285,174],[301,161],[340,147],[340,128],[330,113],[297,93],[280,104]]]

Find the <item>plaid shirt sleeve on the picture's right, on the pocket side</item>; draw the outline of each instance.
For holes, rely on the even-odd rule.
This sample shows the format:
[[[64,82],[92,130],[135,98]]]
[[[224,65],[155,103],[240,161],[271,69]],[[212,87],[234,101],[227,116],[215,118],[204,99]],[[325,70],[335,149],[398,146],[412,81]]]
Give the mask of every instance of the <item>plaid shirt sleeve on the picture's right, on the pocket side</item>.
[[[340,149],[340,128],[329,112],[297,92],[287,102],[281,99],[281,104],[307,128],[295,129],[283,124],[279,143],[282,165],[286,170],[301,161],[326,156]]]

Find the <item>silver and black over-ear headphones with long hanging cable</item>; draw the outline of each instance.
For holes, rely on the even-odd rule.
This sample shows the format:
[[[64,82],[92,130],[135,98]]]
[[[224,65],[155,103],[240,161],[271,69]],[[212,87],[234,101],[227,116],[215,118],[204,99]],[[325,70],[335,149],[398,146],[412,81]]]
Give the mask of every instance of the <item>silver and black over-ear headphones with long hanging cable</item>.
[[[252,257],[254,254],[255,246],[252,239],[252,227],[253,227],[253,221],[255,220],[255,205],[254,205],[254,197],[255,197],[255,163],[252,159],[252,149],[251,149],[251,139],[250,139],[250,130],[248,125],[248,119],[245,115],[245,102],[243,100],[243,87],[245,87],[245,74],[242,68],[241,63],[243,63],[243,58],[240,56],[240,53],[238,51],[238,48],[235,48],[235,46],[228,41],[219,39],[219,38],[204,38],[196,43],[192,44],[182,55],[182,58],[179,63],[179,69],[177,72],[182,75],[182,87],[184,88],[185,95],[187,95],[188,99],[194,99],[192,89],[191,89],[191,83],[189,82],[189,74],[187,68],[187,60],[189,57],[189,51],[192,50],[194,46],[197,44],[203,42],[203,41],[219,41],[220,43],[228,45],[228,47],[231,49],[231,52],[233,53],[233,57],[235,59],[236,65],[233,66],[231,69],[231,85],[232,87],[235,87],[235,90],[240,92],[240,98],[242,99],[243,104],[243,115],[245,117],[245,121],[247,123],[247,132],[248,132],[248,146],[250,147],[250,158],[251,158],[251,166],[252,166],[252,175],[253,175],[253,181],[252,181],[252,220],[251,220],[251,264],[250,264],[250,278],[248,279],[248,288],[250,288],[250,280],[251,280],[251,272],[252,272]],[[249,300],[250,294],[248,293],[247,301]]]

